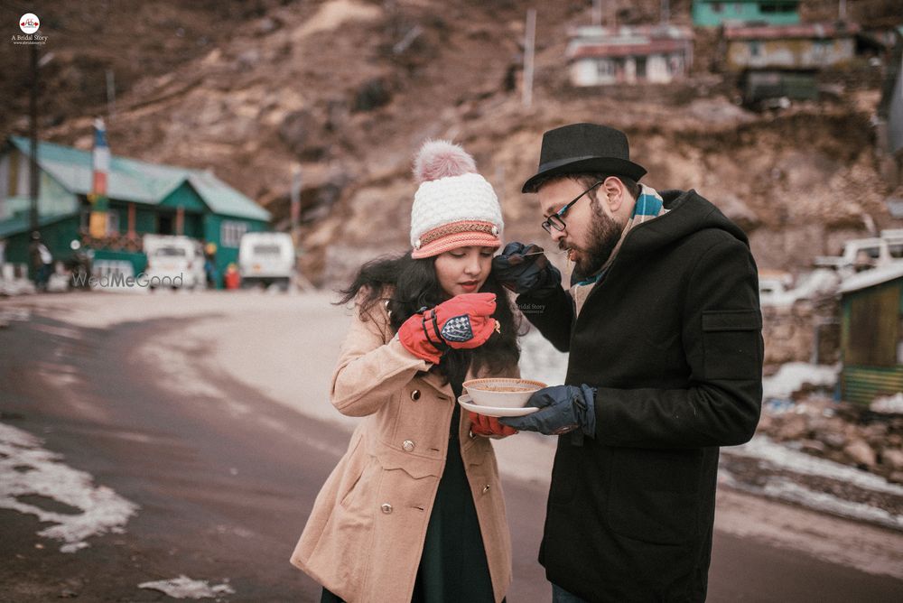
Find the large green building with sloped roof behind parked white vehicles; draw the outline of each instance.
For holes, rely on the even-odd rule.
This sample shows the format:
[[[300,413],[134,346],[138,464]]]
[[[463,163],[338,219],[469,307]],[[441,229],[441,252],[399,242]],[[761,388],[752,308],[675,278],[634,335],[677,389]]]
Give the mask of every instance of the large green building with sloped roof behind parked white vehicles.
[[[0,240],[5,241],[6,262],[28,262],[30,153],[31,141],[18,136],[9,137],[0,149]],[[237,261],[241,236],[269,228],[268,211],[211,172],[113,155],[107,236],[91,238],[91,153],[40,142],[37,160],[39,227],[57,260],[69,256],[71,242],[78,239],[94,249],[95,264],[127,262],[138,274],[146,265],[144,235],[184,235],[216,244],[221,280],[225,267]]]

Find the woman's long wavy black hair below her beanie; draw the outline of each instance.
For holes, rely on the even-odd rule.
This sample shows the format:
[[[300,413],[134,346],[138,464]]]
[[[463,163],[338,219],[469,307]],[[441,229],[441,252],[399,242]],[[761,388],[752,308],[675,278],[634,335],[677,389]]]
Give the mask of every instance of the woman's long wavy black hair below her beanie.
[[[421,308],[433,308],[448,299],[442,291],[435,269],[436,258],[414,259],[410,252],[396,257],[381,257],[361,266],[354,281],[340,290],[342,298],[338,304],[346,304],[358,297],[361,311],[368,311],[375,303],[383,301],[383,288],[394,287],[388,301],[389,322],[397,331],[405,320]],[[442,362],[433,366],[446,381],[461,383],[473,365],[474,371],[486,369],[489,373],[500,373],[517,366],[520,348],[517,334],[520,327],[511,310],[507,291],[493,274],[483,283],[479,292],[496,294],[496,311],[492,315],[501,326],[500,333],[494,333],[479,348],[450,349],[442,355]]]

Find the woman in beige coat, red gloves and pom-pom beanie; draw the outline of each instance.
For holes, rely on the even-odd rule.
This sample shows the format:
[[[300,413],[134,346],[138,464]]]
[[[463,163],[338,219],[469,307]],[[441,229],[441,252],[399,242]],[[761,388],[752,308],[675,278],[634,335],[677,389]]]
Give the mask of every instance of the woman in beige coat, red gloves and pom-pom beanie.
[[[314,503],[292,562],[323,601],[501,601],[511,580],[498,468],[464,416],[472,376],[517,376],[517,325],[490,274],[504,227],[460,146],[424,144],[410,253],[365,264],[340,303],[356,317],[332,378],[340,413],[364,416]]]

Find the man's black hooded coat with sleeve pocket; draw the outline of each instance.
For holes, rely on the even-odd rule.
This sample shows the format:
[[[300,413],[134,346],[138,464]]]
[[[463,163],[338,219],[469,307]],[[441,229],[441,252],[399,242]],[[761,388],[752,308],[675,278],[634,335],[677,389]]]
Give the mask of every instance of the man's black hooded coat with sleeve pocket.
[[[539,561],[588,601],[703,601],[720,446],[749,441],[762,319],[747,237],[696,194],[634,227],[575,317],[563,289],[518,306],[598,388],[594,438],[560,436]]]

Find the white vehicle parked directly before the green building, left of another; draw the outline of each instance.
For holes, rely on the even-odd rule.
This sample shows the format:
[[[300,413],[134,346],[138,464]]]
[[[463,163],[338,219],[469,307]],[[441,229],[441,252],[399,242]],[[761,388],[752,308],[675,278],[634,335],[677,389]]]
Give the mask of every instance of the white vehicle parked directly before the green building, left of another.
[[[200,241],[190,237],[144,235],[144,269],[148,287],[203,289],[204,250]]]

